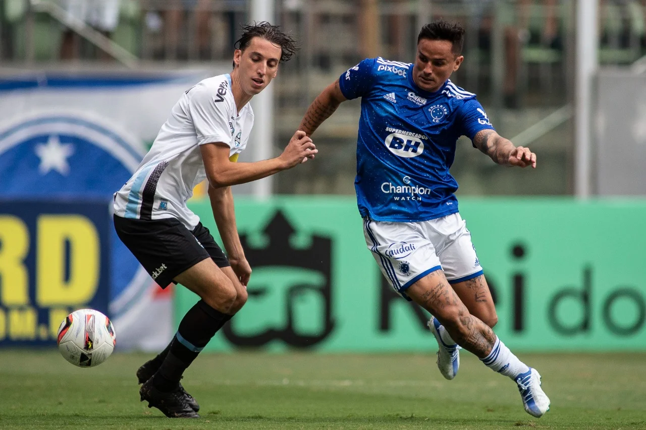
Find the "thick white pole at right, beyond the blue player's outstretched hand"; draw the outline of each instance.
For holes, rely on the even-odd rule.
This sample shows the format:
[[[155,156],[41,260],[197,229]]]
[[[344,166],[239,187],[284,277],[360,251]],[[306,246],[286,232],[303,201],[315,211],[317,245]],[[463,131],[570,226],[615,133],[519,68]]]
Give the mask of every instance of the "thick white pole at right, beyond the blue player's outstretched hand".
[[[599,61],[597,33],[598,0],[578,0],[576,8],[576,87],[574,105],[574,194],[587,199],[591,194],[592,165],[592,79]]]

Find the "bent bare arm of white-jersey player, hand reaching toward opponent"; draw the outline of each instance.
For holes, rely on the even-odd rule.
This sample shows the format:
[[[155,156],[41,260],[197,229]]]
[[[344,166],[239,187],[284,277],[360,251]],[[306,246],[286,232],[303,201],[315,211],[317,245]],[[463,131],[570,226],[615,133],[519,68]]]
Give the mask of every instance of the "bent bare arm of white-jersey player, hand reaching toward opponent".
[[[291,169],[297,164],[304,163],[308,158],[314,158],[318,152],[312,139],[301,130],[298,130],[289,140],[280,156],[253,163],[234,163],[229,160],[229,145],[221,142],[205,143],[200,145],[200,150],[209,185],[213,188],[229,187],[266,178],[281,170]]]

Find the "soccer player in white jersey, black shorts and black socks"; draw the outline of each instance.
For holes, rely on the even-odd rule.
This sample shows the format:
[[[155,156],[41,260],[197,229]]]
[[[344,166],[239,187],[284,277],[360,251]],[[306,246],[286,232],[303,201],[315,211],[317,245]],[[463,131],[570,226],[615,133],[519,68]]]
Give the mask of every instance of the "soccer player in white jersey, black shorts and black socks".
[[[251,267],[238,238],[231,185],[290,169],[317,152],[297,131],[280,156],[236,163],[253,126],[251,97],[296,50],[295,41],[277,26],[262,22],[243,30],[233,71],[204,79],[182,95],[137,171],[114,194],[121,241],[160,287],[181,283],[201,299],[168,347],[137,371],[141,400],[169,417],[199,418],[199,405],[180,384],[182,373],[247,300]],[[209,181],[227,256],[186,205],[203,179]]]

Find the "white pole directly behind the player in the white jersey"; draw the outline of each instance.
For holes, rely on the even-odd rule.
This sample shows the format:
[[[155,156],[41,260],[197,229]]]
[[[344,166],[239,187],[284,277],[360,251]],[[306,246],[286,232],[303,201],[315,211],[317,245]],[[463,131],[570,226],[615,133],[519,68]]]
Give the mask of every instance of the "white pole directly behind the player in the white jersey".
[[[275,24],[274,0],[252,0],[251,21],[269,21]],[[278,67],[280,73],[280,67]],[[251,99],[254,110],[254,125],[249,143],[257,161],[271,158],[274,146],[274,85],[269,84],[260,94]],[[272,178],[253,182],[251,193],[259,199],[271,196]]]

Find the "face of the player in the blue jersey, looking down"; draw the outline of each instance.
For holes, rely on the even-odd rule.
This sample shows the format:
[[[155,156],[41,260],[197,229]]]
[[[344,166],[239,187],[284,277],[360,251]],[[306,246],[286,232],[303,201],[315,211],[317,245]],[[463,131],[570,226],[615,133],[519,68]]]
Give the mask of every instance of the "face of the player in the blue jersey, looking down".
[[[452,52],[453,43],[447,40],[422,39],[417,44],[413,67],[413,81],[417,87],[435,92],[460,67],[463,56]]]

